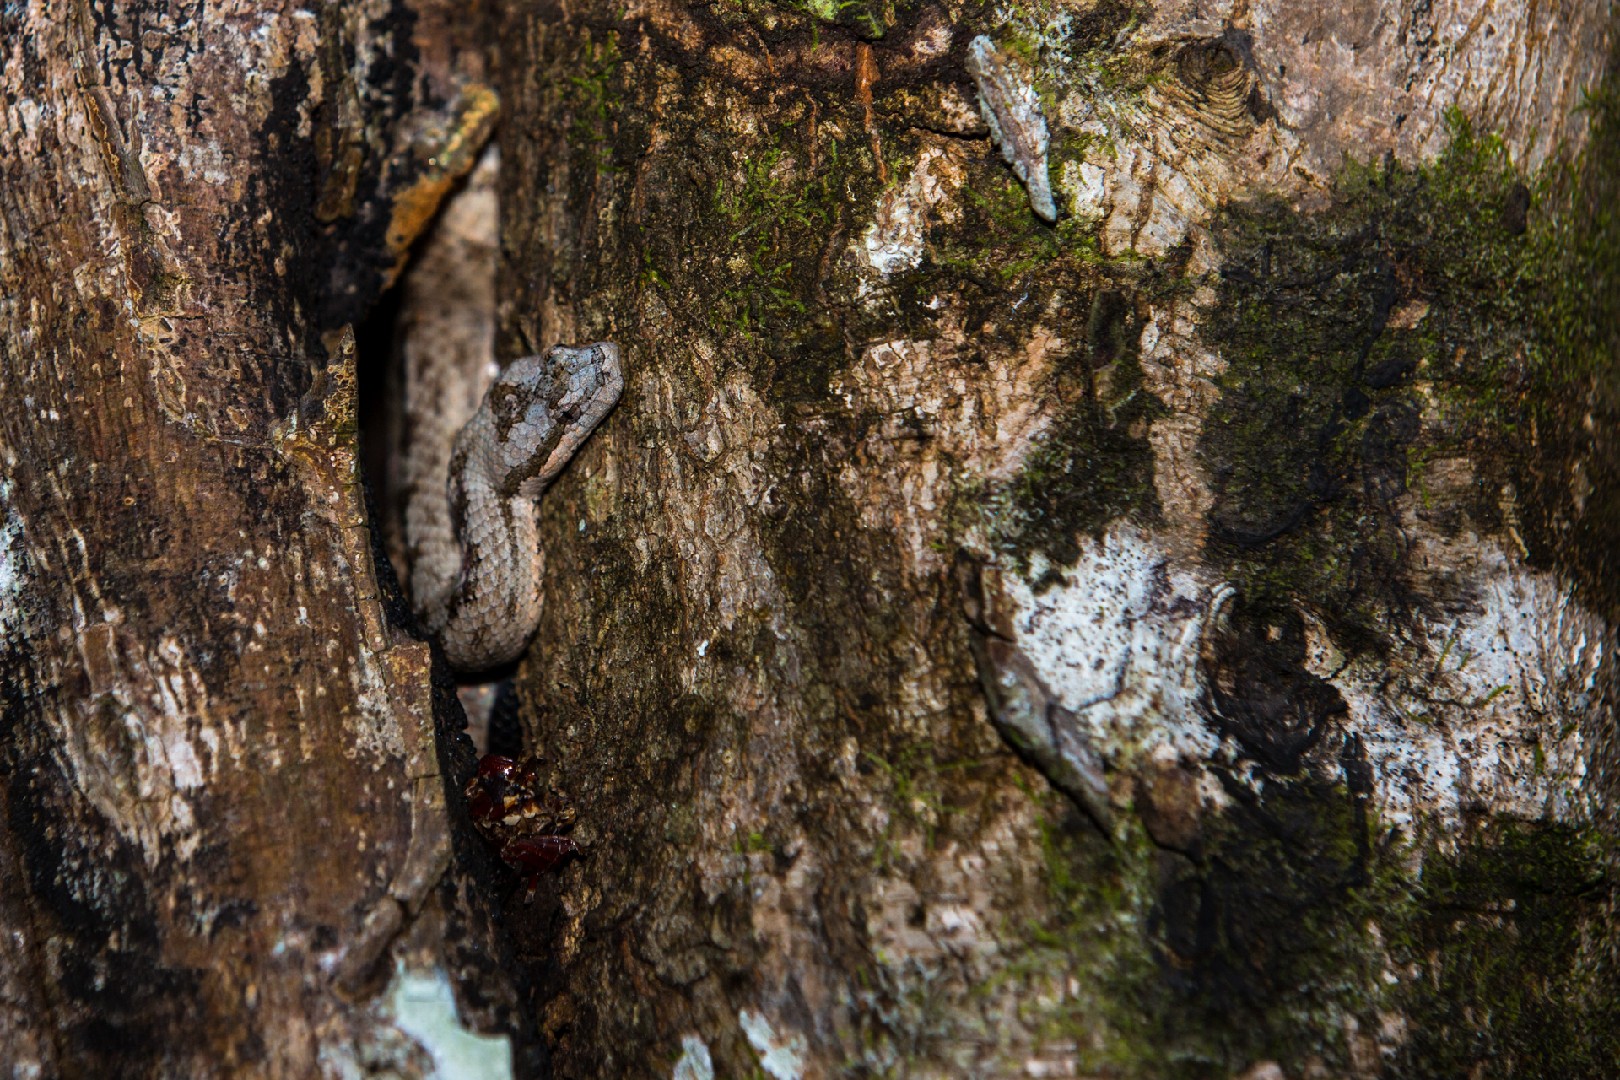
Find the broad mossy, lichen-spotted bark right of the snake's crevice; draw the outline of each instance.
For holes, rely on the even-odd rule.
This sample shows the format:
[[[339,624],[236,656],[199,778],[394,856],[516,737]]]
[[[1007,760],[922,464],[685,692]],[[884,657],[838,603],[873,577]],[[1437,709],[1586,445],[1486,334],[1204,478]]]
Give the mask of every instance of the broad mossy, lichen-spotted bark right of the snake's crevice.
[[[502,24],[561,1075],[1604,1075],[1605,5]]]

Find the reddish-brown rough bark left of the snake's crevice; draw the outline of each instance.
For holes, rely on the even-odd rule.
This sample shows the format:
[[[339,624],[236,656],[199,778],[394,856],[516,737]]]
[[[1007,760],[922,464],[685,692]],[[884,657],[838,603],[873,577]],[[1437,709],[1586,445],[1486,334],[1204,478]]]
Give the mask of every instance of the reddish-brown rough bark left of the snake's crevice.
[[[379,591],[356,468],[348,324],[491,126],[452,15],[0,15],[6,1075],[504,1059],[455,1030],[446,968],[478,976],[468,1017],[523,1028],[455,899],[488,858],[429,892],[431,654]],[[418,910],[402,1004],[377,991]]]

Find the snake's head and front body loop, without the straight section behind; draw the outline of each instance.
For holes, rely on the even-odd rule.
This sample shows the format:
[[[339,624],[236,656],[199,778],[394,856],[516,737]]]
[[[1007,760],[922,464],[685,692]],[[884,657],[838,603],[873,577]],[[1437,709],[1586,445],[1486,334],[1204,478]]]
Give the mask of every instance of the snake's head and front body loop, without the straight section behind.
[[[539,623],[546,486],[624,390],[619,347],[557,345],[512,361],[455,436],[449,476],[418,499],[411,597],[458,670],[517,659]],[[439,492],[439,494],[436,494]]]

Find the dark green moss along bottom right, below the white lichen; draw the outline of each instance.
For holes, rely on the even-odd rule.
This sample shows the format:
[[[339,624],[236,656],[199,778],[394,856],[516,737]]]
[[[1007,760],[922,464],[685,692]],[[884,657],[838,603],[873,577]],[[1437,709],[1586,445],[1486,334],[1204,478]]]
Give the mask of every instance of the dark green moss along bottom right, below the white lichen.
[[[1113,847],[1043,826],[1051,915],[1003,978],[1081,988],[1045,1027],[1082,1070],[1345,1075],[1346,1031],[1401,1015],[1392,1077],[1610,1075],[1612,860],[1594,831],[1492,818],[1413,840],[1343,782],[1228,792],[1187,855],[1131,824]]]

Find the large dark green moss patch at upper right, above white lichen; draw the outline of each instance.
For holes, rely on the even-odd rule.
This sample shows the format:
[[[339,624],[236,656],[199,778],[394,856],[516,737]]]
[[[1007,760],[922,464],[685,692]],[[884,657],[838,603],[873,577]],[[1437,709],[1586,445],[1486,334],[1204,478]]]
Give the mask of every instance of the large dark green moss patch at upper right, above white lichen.
[[[1554,202],[1453,117],[1439,160],[1349,165],[1325,210],[1226,210],[1205,337],[1228,371],[1202,453],[1212,547],[1239,588],[1375,646],[1418,602],[1396,507],[1414,461],[1466,453],[1481,479],[1460,508],[1503,528],[1497,492],[1545,457],[1537,418],[1614,355],[1594,340],[1612,337],[1594,308],[1614,290],[1588,288],[1612,248],[1586,251]]]

